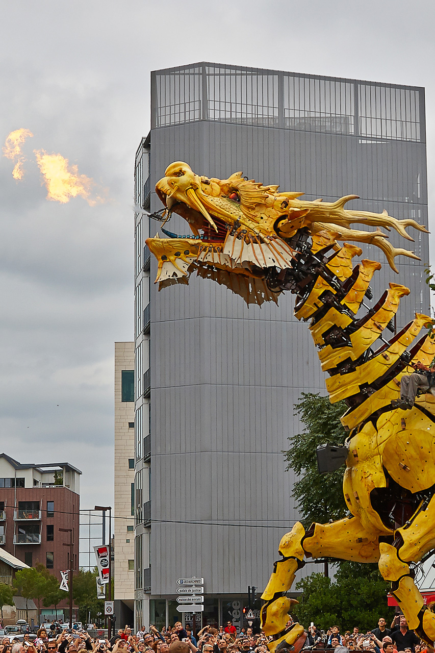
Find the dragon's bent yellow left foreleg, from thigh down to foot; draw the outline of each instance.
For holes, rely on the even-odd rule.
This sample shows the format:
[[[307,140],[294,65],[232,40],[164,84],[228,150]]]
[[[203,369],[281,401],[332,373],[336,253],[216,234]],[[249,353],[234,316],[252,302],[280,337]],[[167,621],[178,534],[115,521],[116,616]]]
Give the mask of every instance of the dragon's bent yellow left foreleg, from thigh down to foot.
[[[291,588],[296,571],[304,566],[304,557],[331,556],[356,562],[378,562],[378,538],[378,530],[364,528],[359,517],[312,524],[307,532],[297,522],[291,532],[283,536],[279,549],[282,559],[275,562],[261,596],[266,601],[261,609],[261,628],[267,636],[273,636],[268,643],[271,653],[293,645],[298,652],[304,645],[304,628],[300,624],[286,627],[289,609],[297,601],[283,596]]]

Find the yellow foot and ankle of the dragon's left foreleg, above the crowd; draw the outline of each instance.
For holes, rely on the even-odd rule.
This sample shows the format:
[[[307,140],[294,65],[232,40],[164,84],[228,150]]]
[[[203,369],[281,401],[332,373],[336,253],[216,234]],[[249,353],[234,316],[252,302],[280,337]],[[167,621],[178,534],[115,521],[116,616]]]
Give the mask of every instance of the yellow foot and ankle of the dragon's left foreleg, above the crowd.
[[[273,639],[268,643],[270,653],[287,648],[298,653],[305,643],[304,627],[300,624],[291,624],[287,628],[292,605],[298,603],[295,599],[280,596],[274,601],[268,601],[261,608],[261,627],[265,635]]]

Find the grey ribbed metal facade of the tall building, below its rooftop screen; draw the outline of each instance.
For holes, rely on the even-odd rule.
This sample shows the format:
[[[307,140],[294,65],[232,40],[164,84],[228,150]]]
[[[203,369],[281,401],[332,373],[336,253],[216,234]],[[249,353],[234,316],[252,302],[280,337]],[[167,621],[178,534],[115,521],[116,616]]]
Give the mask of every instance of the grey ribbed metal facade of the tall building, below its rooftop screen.
[[[302,77],[302,76],[301,76]],[[308,76],[306,76],[308,78]],[[197,121],[152,130],[150,182],[182,160],[199,174],[242,170],[307,199],[355,193],[349,208],[413,217],[427,224],[425,144],[368,142],[354,135]],[[369,139],[370,140],[370,139]],[[418,183],[417,183],[418,182]],[[152,210],[160,208],[152,193]],[[155,225],[155,226],[154,226]],[[188,233],[172,218],[172,231]],[[150,234],[157,231],[152,222]],[[428,261],[428,238],[415,233]],[[395,246],[408,243],[390,234]],[[363,256],[383,261],[379,249]],[[428,311],[423,263],[402,259],[400,277],[383,263],[374,297],[389,281],[408,285],[398,326]],[[155,277],[152,259],[152,278]],[[293,404],[302,391],[325,393],[307,325],[280,306],[251,306],[208,279],[150,291],[152,306],[152,594],[174,594],[180,575],[203,575],[206,592],[264,586],[278,542],[297,519],[294,478],[282,449],[300,429]],[[210,520],[216,525],[189,524]],[[217,525],[220,522],[238,526]],[[256,526],[250,526],[256,524]],[[278,524],[278,525],[277,525]],[[261,528],[260,528],[261,527]],[[312,565],[304,571],[311,573]]]

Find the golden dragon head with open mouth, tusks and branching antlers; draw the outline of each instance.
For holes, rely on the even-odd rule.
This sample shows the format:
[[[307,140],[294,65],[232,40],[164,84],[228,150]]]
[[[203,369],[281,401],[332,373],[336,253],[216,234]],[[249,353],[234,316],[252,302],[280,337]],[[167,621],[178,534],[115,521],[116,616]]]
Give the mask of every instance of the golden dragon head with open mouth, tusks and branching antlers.
[[[191,234],[178,236],[163,228],[169,238],[148,238],[146,244],[158,263],[159,289],[172,283],[188,283],[191,272],[215,279],[248,303],[277,301],[281,289],[271,279],[289,268],[294,258],[292,240],[300,229],[309,234],[328,234],[329,241],[356,240],[383,249],[391,267],[394,257],[412,252],[396,249],[385,240],[380,226],[393,227],[412,240],[405,228],[426,231],[413,220],[396,220],[387,212],[348,211],[344,204],[356,199],[347,195],[336,202],[298,200],[303,193],[278,192],[276,185],[262,185],[235,172],[220,180],[195,174],[182,161],[171,163],[155,191],[164,205],[164,223],[172,213],[181,215]],[[161,212],[159,212],[161,213]],[[153,214],[155,216],[155,214]],[[374,225],[376,231],[350,229],[351,223]]]

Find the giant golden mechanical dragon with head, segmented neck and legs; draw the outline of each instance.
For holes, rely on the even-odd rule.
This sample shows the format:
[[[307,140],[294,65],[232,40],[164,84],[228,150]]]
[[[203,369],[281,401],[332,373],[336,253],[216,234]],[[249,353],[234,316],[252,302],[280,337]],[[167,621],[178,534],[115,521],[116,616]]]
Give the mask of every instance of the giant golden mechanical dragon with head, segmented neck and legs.
[[[374,351],[400,298],[410,291],[390,283],[378,303],[357,317],[381,264],[362,259],[353,267],[352,258],[362,250],[345,242],[378,246],[397,271],[396,255],[417,257],[393,247],[380,228],[395,229],[408,240],[407,227],[425,228],[385,211],[346,210],[355,195],[336,202],[304,201],[298,199],[302,193],[280,193],[277,186],[261,185],[240,172],[225,180],[198,176],[180,161],[167,168],[156,192],[165,207],[161,217],[175,212],[192,232],[178,236],[163,227],[169,238],[146,241],[158,262],[160,287],[187,283],[196,271],[248,303],[277,302],[280,293],[291,291],[297,296],[295,315],[310,320],[321,368],[330,375],[330,401],[344,400],[348,406],[342,423],[349,430],[343,482],[349,517],[308,530],[297,523],[283,536],[281,558],[262,595],[261,622],[272,636],[270,651],[302,646],[302,626],[287,627],[292,599],[285,593],[304,558],[323,556],[377,562],[408,626],[433,645],[435,613],[415,585],[413,564],[435,548],[435,397],[423,394],[407,411],[391,406],[408,365],[428,365],[434,358],[428,330],[414,343],[432,320],[416,314],[391,340],[381,338]],[[352,229],[354,223],[376,231]]]

